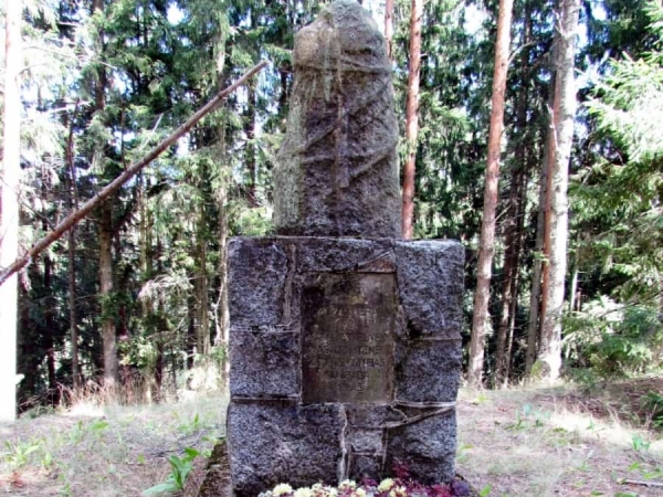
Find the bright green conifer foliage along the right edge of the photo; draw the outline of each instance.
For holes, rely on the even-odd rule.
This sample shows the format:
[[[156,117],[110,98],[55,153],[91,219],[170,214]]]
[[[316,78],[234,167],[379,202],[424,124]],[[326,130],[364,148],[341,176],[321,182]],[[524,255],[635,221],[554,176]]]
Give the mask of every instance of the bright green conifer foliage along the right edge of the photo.
[[[586,104],[590,167],[572,184],[576,250],[596,299],[566,321],[567,357],[600,376],[657,367],[663,267],[663,8],[648,1],[648,50],[609,62]]]

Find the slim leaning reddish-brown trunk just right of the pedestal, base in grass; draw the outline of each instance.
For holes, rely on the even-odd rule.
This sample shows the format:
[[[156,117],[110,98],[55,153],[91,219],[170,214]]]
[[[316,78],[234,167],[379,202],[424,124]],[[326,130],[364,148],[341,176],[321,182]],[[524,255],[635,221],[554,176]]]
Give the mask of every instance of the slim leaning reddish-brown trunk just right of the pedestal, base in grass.
[[[499,154],[504,130],[504,94],[508,70],[511,43],[511,19],[513,0],[499,1],[497,18],[497,43],[495,47],[495,71],[493,74],[493,98],[491,128],[488,131],[488,160],[484,188],[484,208],[481,223],[476,292],[470,342],[470,368],[467,379],[473,387],[482,385],[486,326],[488,325],[488,303],[491,298],[491,275],[495,252],[495,211],[499,182]]]

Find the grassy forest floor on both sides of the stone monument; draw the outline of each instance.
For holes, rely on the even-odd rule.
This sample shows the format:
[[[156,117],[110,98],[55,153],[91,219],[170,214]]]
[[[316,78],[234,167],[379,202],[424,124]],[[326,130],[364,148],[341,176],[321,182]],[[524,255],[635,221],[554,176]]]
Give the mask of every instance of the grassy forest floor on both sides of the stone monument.
[[[648,381],[661,391],[663,379]],[[641,409],[644,394],[633,384],[462,390],[457,470],[486,496],[663,496],[661,487],[623,483],[663,482],[663,442]],[[179,494],[194,496],[227,402],[222,394],[146,406],[81,402],[0,424],[0,493],[139,496],[196,450]]]

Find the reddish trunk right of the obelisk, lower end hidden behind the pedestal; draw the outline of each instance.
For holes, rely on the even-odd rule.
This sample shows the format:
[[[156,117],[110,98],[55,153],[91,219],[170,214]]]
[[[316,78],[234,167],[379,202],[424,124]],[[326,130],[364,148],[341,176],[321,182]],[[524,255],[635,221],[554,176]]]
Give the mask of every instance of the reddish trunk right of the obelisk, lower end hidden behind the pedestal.
[[[410,15],[410,59],[408,72],[408,101],[406,104],[406,138],[408,159],[403,170],[403,239],[412,240],[414,218],[414,171],[417,161],[417,137],[419,135],[419,80],[421,73],[421,18],[423,0],[412,0]]]

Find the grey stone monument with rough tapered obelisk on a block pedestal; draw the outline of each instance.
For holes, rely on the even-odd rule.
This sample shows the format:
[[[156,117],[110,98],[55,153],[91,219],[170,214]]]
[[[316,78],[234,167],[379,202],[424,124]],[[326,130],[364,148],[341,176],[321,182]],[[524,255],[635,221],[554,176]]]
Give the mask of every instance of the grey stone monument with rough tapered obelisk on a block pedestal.
[[[385,41],[352,0],[296,36],[277,236],[229,244],[235,496],[454,477],[463,247],[400,240]]]

